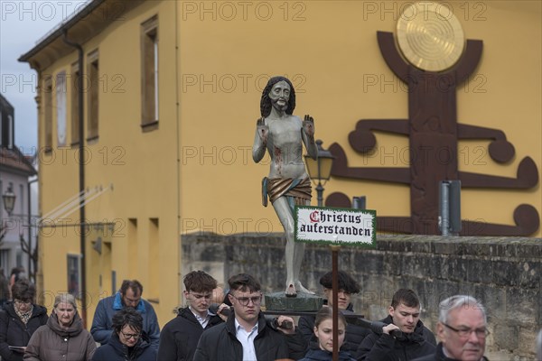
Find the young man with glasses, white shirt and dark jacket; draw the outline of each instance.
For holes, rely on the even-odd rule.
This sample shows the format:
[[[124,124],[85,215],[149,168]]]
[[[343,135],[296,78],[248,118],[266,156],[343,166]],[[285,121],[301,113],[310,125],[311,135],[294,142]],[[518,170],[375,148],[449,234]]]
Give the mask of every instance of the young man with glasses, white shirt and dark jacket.
[[[267,324],[260,312],[261,286],[254,277],[240,273],[230,277],[228,283],[233,313],[225,323],[201,334],[194,361],[267,361],[304,356],[303,338],[295,329],[280,328],[285,321],[294,324],[294,319],[279,316],[276,323],[280,330]]]

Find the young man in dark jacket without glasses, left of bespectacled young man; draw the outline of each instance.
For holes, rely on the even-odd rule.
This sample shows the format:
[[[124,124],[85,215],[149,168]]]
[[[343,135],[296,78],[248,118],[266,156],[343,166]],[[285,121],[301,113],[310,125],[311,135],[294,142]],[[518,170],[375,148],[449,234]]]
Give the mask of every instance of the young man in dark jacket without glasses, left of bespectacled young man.
[[[192,271],[184,276],[184,288],[188,307],[180,308],[177,317],[162,329],[158,348],[160,361],[192,360],[203,330],[223,322],[209,310],[217,280],[203,271]],[[220,305],[219,313],[225,307],[229,306]]]

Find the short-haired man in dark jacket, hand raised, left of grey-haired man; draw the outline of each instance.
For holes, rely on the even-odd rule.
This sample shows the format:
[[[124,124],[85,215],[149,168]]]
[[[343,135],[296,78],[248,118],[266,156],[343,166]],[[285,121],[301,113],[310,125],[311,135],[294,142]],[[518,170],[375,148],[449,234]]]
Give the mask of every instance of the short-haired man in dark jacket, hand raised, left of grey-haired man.
[[[420,318],[420,301],[412,290],[400,289],[391,300],[382,334],[363,339],[356,358],[365,361],[409,361],[435,352],[435,335]],[[401,335],[394,337],[394,331]]]

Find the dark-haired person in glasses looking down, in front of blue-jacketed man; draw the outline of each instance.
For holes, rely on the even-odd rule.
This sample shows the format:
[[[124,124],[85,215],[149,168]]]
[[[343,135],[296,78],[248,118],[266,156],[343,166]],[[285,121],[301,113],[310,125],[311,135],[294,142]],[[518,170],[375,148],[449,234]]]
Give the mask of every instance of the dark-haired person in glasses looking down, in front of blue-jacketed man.
[[[112,319],[113,333],[107,344],[98,347],[92,361],[155,361],[156,350],[151,347],[143,330],[143,318],[135,309],[119,310]]]

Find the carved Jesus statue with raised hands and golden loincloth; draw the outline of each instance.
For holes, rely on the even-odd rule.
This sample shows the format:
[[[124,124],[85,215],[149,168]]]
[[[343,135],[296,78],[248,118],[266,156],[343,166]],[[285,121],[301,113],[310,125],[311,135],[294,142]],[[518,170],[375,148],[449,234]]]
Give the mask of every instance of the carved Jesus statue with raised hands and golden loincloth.
[[[252,146],[254,162],[260,162],[269,152],[271,163],[269,175],[262,182],[263,202],[267,197],[286,236],[286,290],[285,295],[295,297],[297,292],[311,293],[299,281],[299,272],[304,256],[304,244],[294,242],[294,206],[311,204],[311,180],[303,162],[303,144],[307,153],[316,159],[314,143],[314,121],[304,116],[302,121],[293,116],[295,91],[289,79],[269,79],[262,92],[260,102],[261,118]]]

